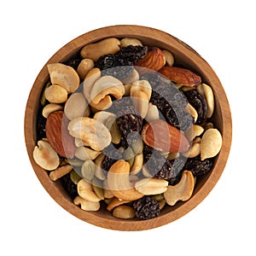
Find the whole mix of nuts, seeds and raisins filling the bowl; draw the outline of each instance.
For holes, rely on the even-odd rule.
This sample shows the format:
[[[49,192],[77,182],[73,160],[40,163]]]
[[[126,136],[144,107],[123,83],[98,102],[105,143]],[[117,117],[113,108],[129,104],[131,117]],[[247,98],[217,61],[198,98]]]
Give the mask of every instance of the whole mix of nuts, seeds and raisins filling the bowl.
[[[84,211],[155,218],[211,172],[212,88],[169,50],[106,38],[47,67],[33,158]]]

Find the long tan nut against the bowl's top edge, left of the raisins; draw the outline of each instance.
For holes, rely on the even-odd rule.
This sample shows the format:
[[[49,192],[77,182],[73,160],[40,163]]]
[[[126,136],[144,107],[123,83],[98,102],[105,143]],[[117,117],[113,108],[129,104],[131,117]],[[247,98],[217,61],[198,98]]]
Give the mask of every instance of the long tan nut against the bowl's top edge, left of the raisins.
[[[107,38],[93,44],[87,44],[81,49],[83,58],[97,61],[102,55],[115,54],[119,51],[120,41],[117,38]]]

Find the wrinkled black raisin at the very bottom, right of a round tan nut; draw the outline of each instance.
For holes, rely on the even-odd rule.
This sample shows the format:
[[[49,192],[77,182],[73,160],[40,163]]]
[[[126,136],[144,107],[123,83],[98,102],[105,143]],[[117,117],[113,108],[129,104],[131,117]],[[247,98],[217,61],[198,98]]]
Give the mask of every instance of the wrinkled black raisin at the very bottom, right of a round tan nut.
[[[146,195],[132,204],[135,215],[140,219],[158,217],[160,214],[160,205],[152,197]]]

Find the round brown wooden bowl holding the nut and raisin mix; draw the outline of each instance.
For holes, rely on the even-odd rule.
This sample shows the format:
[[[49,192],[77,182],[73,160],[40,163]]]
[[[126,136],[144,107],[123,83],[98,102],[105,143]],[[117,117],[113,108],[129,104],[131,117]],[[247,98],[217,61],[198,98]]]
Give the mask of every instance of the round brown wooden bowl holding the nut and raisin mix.
[[[168,49],[176,58],[177,63],[183,63],[184,67],[189,68],[201,75],[202,81],[212,86],[215,95],[215,112],[213,114],[213,122],[223,136],[223,146],[213,166],[212,172],[207,173],[203,177],[197,179],[194,193],[189,201],[179,201],[174,207],[165,207],[158,218],[148,220],[130,219],[124,220],[114,218],[112,214],[104,209],[98,212],[85,212],[73,204],[66,191],[61,187],[61,183],[53,182],[49,179],[49,173],[39,167],[32,157],[32,151],[37,144],[36,140],[36,120],[40,102],[41,92],[44,84],[49,79],[46,64],[53,62],[67,61],[73,55],[79,53],[79,50],[85,45],[94,43],[103,38],[138,38],[143,44],[158,46],[162,49]],[[231,144],[231,115],[227,97],[224,88],[217,75],[194,49],[184,44],[177,38],[174,38],[166,32],[156,30],[154,28],[144,26],[108,26],[91,32],[84,33],[79,38],[73,39],[64,47],[59,49],[47,62],[37,79],[35,80],[30,92],[25,115],[25,138],[26,148],[32,167],[39,181],[43,184],[44,189],[61,207],[72,213],[75,217],[83,221],[95,224],[103,228],[111,230],[148,230],[159,227],[164,224],[171,223],[177,218],[182,217],[187,212],[196,207],[212,190],[218,182],[218,178],[224,171],[224,166],[228,159]]]

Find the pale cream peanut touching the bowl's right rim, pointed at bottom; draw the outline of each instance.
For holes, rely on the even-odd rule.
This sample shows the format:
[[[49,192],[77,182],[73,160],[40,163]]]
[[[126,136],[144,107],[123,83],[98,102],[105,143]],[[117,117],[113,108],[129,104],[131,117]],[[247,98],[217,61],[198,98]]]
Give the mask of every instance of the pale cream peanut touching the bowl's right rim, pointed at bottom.
[[[205,131],[201,138],[201,160],[217,155],[222,147],[222,137],[220,132],[211,128]]]

